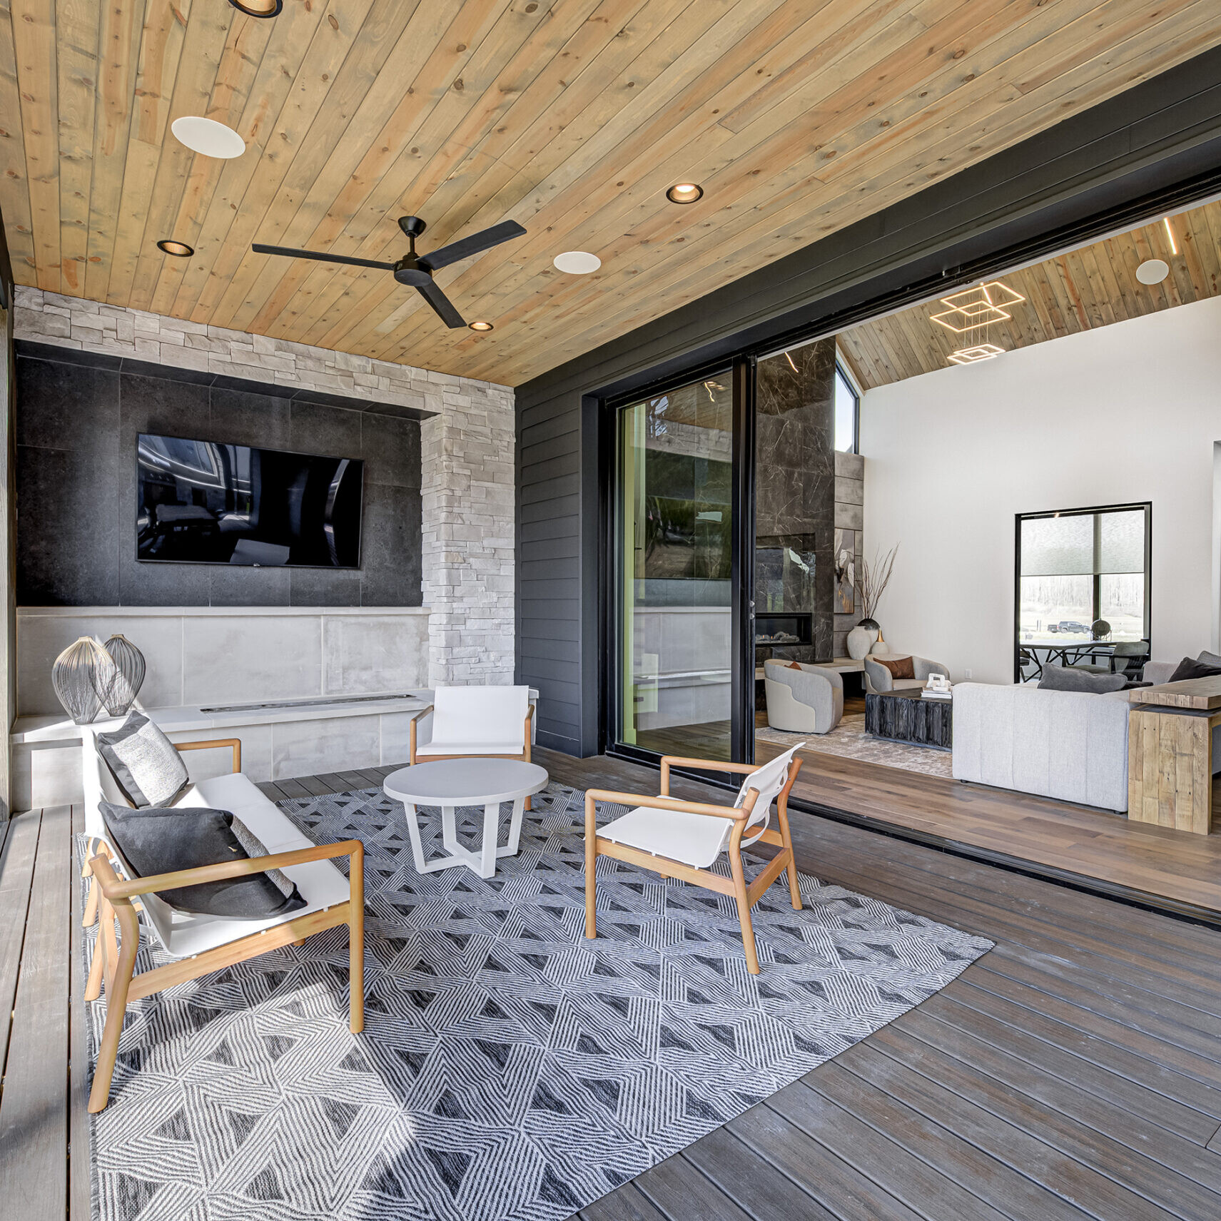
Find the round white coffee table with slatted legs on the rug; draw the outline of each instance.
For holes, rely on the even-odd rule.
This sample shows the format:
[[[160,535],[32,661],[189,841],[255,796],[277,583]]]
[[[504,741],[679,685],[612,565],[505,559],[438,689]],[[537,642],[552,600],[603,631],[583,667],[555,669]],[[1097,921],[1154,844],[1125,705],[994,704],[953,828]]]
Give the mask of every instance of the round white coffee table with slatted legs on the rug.
[[[437,869],[465,864],[481,878],[491,878],[496,873],[497,857],[516,856],[526,797],[546,788],[547,773],[536,763],[491,758],[416,763],[415,767],[391,772],[382,785],[387,797],[403,802],[415,868],[420,873],[436,873]],[[513,802],[513,817],[509,822],[509,842],[504,847],[497,847],[502,801]],[[418,806],[441,807],[441,838],[448,856],[438,856],[425,863]],[[484,844],[477,856],[458,842],[454,810],[459,806],[484,807]]]

